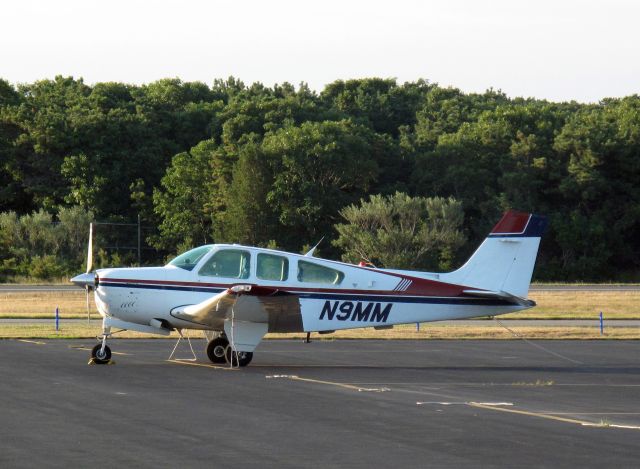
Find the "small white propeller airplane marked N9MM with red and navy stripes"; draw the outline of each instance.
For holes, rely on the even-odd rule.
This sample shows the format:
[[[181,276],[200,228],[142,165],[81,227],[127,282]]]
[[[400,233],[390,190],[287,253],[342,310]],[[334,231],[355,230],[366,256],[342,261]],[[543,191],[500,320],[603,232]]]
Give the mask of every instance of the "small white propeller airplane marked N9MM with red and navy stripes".
[[[200,246],[164,267],[92,273],[90,231],[87,272],[71,281],[87,289],[87,298],[95,291],[103,318],[94,363],[109,362],[112,329],[177,330],[181,338],[182,330],[199,329],[213,363],[243,367],[267,332],[386,329],[531,308],[535,302],[526,296],[546,224],[543,216],[508,211],[469,260],[448,273],[320,259],[315,248],[302,255],[237,244]]]

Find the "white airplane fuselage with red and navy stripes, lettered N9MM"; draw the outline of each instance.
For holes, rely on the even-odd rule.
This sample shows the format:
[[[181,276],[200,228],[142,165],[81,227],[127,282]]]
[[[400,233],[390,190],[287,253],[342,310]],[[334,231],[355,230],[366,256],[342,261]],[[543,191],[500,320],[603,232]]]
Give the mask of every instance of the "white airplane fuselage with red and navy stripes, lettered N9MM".
[[[467,295],[464,290],[470,287],[446,282],[446,274],[389,271],[240,245],[199,249],[190,251],[193,259],[185,253],[176,258],[182,261],[164,267],[98,270],[98,311],[145,326],[155,321],[167,327],[204,329],[172,311],[235,285],[268,287],[299,298],[300,320],[275,320],[270,332],[381,327],[526,309],[499,298]]]

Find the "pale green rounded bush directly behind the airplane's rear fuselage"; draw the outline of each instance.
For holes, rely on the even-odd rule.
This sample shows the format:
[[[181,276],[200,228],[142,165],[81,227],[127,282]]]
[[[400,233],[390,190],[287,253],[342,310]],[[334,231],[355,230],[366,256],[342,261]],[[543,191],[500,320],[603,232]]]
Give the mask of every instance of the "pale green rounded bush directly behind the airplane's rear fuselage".
[[[340,211],[334,244],[343,260],[365,260],[387,268],[447,270],[464,243],[464,213],[455,199],[373,195]]]

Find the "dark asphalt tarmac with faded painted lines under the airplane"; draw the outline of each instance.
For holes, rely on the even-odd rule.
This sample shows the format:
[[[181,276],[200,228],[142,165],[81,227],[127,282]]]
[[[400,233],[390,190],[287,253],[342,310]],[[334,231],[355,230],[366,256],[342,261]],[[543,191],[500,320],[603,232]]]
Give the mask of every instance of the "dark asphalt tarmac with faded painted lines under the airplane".
[[[0,467],[638,467],[640,342],[0,341]],[[187,358],[182,343],[178,358]]]

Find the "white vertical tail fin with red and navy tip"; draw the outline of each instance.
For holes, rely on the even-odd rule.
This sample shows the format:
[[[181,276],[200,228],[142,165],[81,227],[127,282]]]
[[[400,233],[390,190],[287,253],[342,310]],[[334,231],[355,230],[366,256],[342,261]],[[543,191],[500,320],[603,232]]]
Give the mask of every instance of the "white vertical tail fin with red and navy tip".
[[[441,275],[447,282],[526,297],[546,217],[513,210],[458,270]]]

